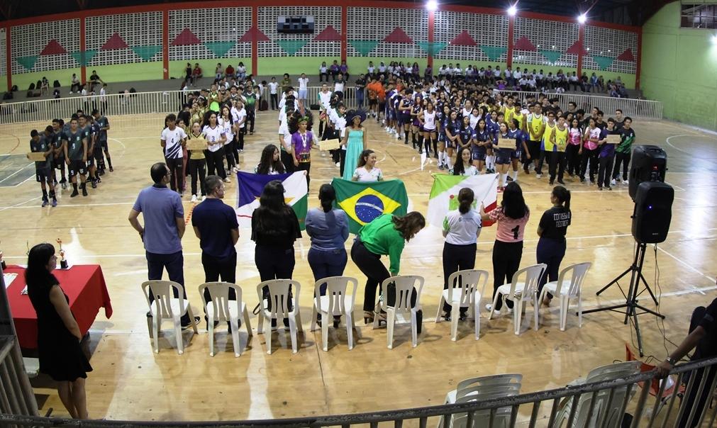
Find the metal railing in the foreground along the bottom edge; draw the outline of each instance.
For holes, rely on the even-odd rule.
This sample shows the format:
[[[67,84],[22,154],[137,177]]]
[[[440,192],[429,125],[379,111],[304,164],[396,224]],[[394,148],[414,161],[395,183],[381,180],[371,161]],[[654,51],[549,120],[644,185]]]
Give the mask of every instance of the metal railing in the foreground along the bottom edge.
[[[500,399],[489,399],[485,401],[471,401],[460,404],[444,404],[442,406],[419,407],[416,409],[390,410],[384,412],[371,412],[361,414],[343,414],[323,417],[301,417],[290,419],[267,419],[247,421],[222,421],[222,422],[138,422],[138,421],[107,421],[87,420],[77,421],[47,417],[16,416],[11,414],[0,414],[0,424],[14,424],[19,427],[351,427],[353,425],[368,424],[370,427],[391,424],[394,427],[402,427],[404,424],[417,425],[424,428],[428,426],[429,418],[437,418],[439,427],[457,427],[452,424],[455,417],[462,417],[460,426],[478,426],[475,419],[476,414],[485,417],[489,413],[488,422],[480,424],[480,427],[493,427],[498,425],[495,417],[498,411],[508,409],[509,421],[500,423],[501,427],[573,427],[578,420],[586,421],[579,426],[589,427],[619,427],[622,424],[630,424],[630,427],[673,427],[677,421],[682,420],[685,426],[707,427],[713,426],[717,413],[717,406],[710,409],[710,402],[714,395],[717,384],[717,358],[693,361],[673,368],[670,376],[674,381],[673,391],[665,394],[667,381],[661,381],[660,387],[655,394],[655,399],[650,400],[650,386],[654,376],[653,371],[646,371],[640,374],[627,376],[622,379],[612,379],[593,383],[566,386],[560,389],[549,391],[538,391],[530,394],[521,394]],[[676,380],[675,380],[676,376]],[[683,385],[683,380],[686,386]],[[684,386],[684,387],[683,387]],[[637,391],[640,390],[640,394]],[[616,391],[622,391],[624,399],[613,403]],[[609,394],[607,405],[603,403],[597,406],[596,397],[598,394]],[[697,406],[690,402],[690,394],[706,398],[703,406]],[[589,408],[582,409],[582,417],[578,418],[579,404],[581,397],[590,396]],[[634,396],[637,395],[637,402]],[[678,396],[682,397],[678,403]],[[652,401],[652,407],[648,404]],[[543,404],[546,404],[543,406]],[[604,412],[605,408],[619,409],[617,418],[608,418]],[[566,406],[568,409],[566,411]],[[603,407],[604,406],[604,407]],[[600,407],[600,408],[598,408]],[[699,412],[698,412],[699,410]],[[602,413],[601,413],[602,412]],[[630,417],[632,419],[630,419]],[[591,419],[592,418],[592,419]]]

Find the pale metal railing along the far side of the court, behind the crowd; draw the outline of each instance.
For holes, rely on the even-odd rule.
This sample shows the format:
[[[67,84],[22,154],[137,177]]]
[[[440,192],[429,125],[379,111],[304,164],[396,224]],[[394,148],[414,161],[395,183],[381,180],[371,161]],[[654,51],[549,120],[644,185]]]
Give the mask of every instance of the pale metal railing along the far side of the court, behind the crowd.
[[[318,103],[320,87],[308,87],[308,104]],[[265,91],[266,92],[266,91]],[[509,92],[518,94],[521,100],[529,95],[537,96],[538,92]],[[268,96],[262,98],[268,101]],[[605,112],[606,117],[612,115],[617,108],[632,118],[660,120],[663,118],[663,104],[659,101],[632,100],[628,98],[610,98],[599,95],[582,94],[551,94],[559,99],[562,108],[567,108],[570,101],[574,101],[578,108],[586,112],[597,106]],[[68,98],[49,100],[24,100],[15,103],[0,103],[0,124],[15,124],[28,122],[49,122],[54,118],[68,118],[77,110],[90,113],[97,108],[105,115],[146,115],[152,113],[177,113],[181,105],[186,102],[186,92],[160,91],[135,92],[112,95],[77,95]],[[356,107],[356,90],[346,87],[343,103],[347,108]],[[368,105],[368,98],[364,97],[364,108]]]

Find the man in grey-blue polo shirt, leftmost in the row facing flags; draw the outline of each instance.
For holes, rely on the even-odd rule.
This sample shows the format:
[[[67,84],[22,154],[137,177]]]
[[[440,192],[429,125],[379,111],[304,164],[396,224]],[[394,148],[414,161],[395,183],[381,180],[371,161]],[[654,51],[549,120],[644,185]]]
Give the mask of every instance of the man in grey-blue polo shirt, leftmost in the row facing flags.
[[[155,163],[150,169],[150,175],[154,184],[139,192],[130,210],[129,222],[144,243],[148,280],[161,280],[162,272],[166,269],[169,280],[184,287],[184,256],[181,251],[184,208],[181,197],[167,187],[171,181],[171,171],[164,163]],[[138,220],[140,213],[144,218],[144,227]],[[150,295],[152,300],[153,296]],[[199,323],[199,317],[195,317],[194,323]],[[186,313],[181,318],[181,325],[182,328],[191,326]]]

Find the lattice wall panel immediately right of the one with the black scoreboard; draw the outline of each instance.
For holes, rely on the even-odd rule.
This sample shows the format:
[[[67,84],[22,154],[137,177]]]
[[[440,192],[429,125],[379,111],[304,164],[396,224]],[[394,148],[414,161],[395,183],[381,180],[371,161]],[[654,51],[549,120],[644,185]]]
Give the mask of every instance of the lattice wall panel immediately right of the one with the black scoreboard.
[[[349,7],[347,39],[377,42],[369,57],[426,58],[427,53],[416,42],[428,40],[428,12],[424,9],[379,9]],[[389,43],[384,38],[399,27],[412,43]],[[360,57],[361,52],[348,42],[348,57]]]

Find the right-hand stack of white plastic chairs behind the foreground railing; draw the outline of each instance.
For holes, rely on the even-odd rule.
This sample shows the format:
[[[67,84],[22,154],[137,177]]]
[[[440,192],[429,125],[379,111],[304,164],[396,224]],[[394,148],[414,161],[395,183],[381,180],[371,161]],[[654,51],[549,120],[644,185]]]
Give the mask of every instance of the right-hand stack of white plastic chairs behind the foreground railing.
[[[622,379],[626,376],[640,373],[640,365],[640,361],[627,361],[625,363],[615,363],[594,368],[588,374],[587,379],[577,379],[571,384],[579,385],[591,382],[609,381],[612,379]],[[630,399],[632,399],[632,396],[635,395],[635,392],[637,392],[637,389],[635,388],[630,391]],[[588,420],[587,415],[591,407],[593,394],[582,394],[578,399],[573,424],[570,427],[568,427],[567,422],[570,418],[573,398],[566,397],[560,403],[553,427],[619,427],[623,416],[620,413],[620,410],[622,410],[622,401],[625,401],[625,395],[627,395],[627,385],[614,389],[612,399],[610,399],[609,389],[602,389],[598,391],[595,397],[595,403],[592,405],[592,416],[590,417],[590,420]],[[630,401],[630,399],[628,399],[628,401]]]

